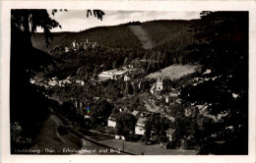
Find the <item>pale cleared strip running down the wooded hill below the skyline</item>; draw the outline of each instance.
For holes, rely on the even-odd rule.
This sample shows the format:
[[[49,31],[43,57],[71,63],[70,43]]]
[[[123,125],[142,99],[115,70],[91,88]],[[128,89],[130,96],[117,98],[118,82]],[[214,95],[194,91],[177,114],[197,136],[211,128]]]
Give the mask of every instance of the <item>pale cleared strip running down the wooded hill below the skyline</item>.
[[[129,26],[133,33],[141,41],[144,49],[152,49],[154,47],[153,41],[147,31],[141,26]]]

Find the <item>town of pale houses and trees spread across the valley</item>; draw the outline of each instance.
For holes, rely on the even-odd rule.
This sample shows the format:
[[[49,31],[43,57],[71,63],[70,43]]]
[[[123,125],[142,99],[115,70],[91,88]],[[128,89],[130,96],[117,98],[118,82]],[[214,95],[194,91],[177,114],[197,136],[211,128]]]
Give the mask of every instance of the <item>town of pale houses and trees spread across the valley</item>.
[[[73,46],[69,50],[77,51],[76,48]],[[171,66],[169,71],[175,70],[175,67],[180,66]],[[200,71],[200,66],[192,68]],[[54,77],[33,78],[31,82],[44,86],[44,95],[58,101],[61,108],[53,109],[54,112],[66,115],[65,121],[82,133],[97,134],[96,140],[100,139],[100,143],[110,143],[112,147],[120,148],[121,139],[142,145],[160,144],[165,150],[179,148],[182,151],[182,148],[187,149],[188,153],[195,153],[198,148],[194,137],[178,129],[177,123],[197,114],[208,116],[213,122],[220,120],[223,115],[208,115],[205,111],[207,106],[181,104],[179,96],[184,84],[179,84],[179,80],[185,79],[191,84],[199,81],[193,78],[186,80],[189,73],[175,79],[164,76],[164,73],[156,76],[158,78],[151,78],[142,72],[145,70],[126,65],[94,74],[86,81],[79,77],[64,80]],[[209,73],[209,70],[205,72]],[[103,137],[106,139],[101,140]]]

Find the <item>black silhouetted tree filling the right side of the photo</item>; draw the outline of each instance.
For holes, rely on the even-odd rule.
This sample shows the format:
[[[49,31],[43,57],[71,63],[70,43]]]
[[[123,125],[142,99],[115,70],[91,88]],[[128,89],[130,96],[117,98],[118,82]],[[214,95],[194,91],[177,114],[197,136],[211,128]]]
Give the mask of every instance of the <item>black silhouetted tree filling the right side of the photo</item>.
[[[203,66],[197,75],[202,80],[186,86],[181,98],[184,102],[207,105],[212,115],[223,115],[215,124],[218,131],[209,131],[208,135],[218,135],[225,141],[227,150],[223,154],[247,154],[248,12],[203,12],[195,28],[199,31],[195,35],[198,43],[190,47],[189,55],[198,57]],[[206,70],[211,73],[205,74]],[[227,132],[229,128],[233,130]]]

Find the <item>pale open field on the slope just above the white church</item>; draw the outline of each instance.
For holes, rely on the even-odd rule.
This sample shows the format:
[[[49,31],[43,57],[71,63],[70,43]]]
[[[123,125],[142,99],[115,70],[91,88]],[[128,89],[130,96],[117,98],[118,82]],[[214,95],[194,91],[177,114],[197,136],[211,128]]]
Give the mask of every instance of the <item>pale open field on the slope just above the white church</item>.
[[[182,76],[196,72],[198,67],[199,66],[192,66],[192,65],[172,65],[164,69],[161,69],[156,73],[152,73],[148,75],[146,78],[158,79],[160,77],[165,76],[165,77],[169,77],[170,80],[175,80],[175,79],[181,78]]]

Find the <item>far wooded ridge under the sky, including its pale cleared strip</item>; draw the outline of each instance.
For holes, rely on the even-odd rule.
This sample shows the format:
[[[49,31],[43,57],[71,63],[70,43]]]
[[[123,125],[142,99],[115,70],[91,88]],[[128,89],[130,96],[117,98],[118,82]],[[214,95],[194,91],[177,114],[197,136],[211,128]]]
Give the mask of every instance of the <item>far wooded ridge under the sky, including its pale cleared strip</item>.
[[[94,27],[80,32],[55,32],[52,33],[53,40],[49,48],[46,48],[43,34],[35,33],[34,36],[32,36],[32,43],[33,46],[38,49],[49,51],[55,45],[71,46],[74,40],[80,42],[89,39],[92,42],[97,42],[106,47],[134,48],[140,50],[145,47],[145,44],[138,35],[145,36],[145,33],[147,33],[147,36],[151,38],[152,41],[150,41],[146,47],[153,46],[159,50],[157,47],[160,47],[160,45],[165,46],[170,40],[183,46],[182,42],[187,42],[186,40],[191,35],[188,34],[189,32],[191,33],[189,25],[193,24],[193,22],[194,21],[153,21],[138,25],[128,23],[113,27]],[[173,45],[171,47],[173,47]]]

